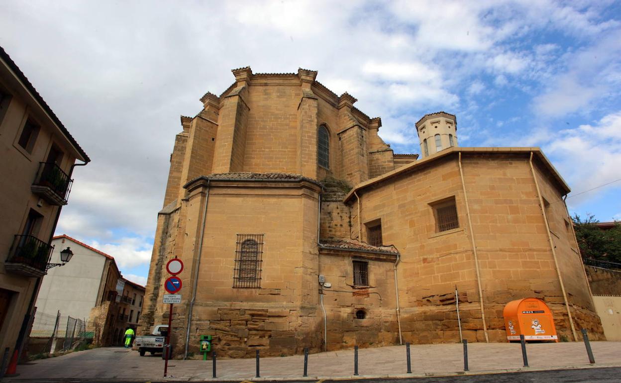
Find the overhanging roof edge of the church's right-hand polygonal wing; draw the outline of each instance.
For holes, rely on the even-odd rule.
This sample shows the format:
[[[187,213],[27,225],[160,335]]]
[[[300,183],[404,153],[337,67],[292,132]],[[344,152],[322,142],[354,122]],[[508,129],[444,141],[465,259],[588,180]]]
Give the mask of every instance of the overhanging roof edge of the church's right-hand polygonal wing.
[[[367,181],[360,182],[356,186],[354,186],[345,196],[343,202],[349,201],[355,192],[360,192],[363,189],[366,189],[369,186],[374,186],[376,184],[380,184],[382,182],[386,182],[391,178],[396,176],[400,176],[409,171],[417,171],[420,168],[423,168],[426,165],[433,164],[435,161],[440,160],[440,158],[445,158],[450,155],[457,155],[458,153],[469,153],[469,154],[487,154],[487,155],[524,155],[528,153],[533,153],[533,155],[537,156],[538,160],[543,163],[551,176],[556,179],[561,189],[563,189],[564,194],[568,194],[571,189],[564,181],[563,177],[556,171],[556,168],[553,164],[550,163],[550,160],[543,154],[540,148],[463,148],[461,146],[453,146],[451,148],[447,148],[445,150],[440,151],[439,153],[435,153],[428,157],[423,158],[422,160],[418,160],[416,162],[406,164],[401,166],[400,168],[389,171],[388,173],[384,173],[381,176],[377,176],[375,178],[371,178]]]

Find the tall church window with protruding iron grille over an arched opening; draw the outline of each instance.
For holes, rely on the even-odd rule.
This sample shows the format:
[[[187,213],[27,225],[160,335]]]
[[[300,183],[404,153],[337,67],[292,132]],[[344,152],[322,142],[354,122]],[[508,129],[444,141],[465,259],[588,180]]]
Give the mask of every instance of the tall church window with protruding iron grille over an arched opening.
[[[261,255],[263,234],[238,234],[235,250],[233,287],[256,289],[261,287]]]

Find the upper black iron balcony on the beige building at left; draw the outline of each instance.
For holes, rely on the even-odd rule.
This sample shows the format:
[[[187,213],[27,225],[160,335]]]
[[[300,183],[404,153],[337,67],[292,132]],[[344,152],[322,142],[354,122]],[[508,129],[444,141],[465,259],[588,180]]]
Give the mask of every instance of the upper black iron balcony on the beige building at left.
[[[66,205],[73,180],[57,164],[39,163],[39,171],[30,189],[52,205]]]

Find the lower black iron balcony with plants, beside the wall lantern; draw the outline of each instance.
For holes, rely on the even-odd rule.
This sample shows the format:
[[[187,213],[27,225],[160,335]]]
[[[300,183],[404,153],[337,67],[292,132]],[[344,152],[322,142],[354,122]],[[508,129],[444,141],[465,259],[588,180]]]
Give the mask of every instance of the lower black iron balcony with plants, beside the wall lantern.
[[[4,268],[29,277],[43,276],[53,248],[32,235],[16,235]]]

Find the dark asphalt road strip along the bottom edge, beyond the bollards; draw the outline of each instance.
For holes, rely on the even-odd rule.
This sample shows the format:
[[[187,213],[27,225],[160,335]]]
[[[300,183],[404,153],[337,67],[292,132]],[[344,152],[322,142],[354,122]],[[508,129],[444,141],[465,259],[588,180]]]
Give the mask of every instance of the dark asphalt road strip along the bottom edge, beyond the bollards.
[[[34,382],[31,379],[17,381]],[[40,382],[40,380],[37,380]],[[50,379],[48,382],[85,382],[80,379]],[[122,383],[120,381],[106,382],[97,381],[98,383]],[[186,381],[179,381],[186,382]],[[230,383],[232,381],[212,381],[214,383]],[[235,381],[238,383],[254,383],[252,381]],[[309,383],[312,381],[260,381],[261,383]],[[326,379],[319,381],[321,383],[342,383],[343,380],[333,381]],[[486,375],[470,375],[470,376],[450,376],[450,377],[410,377],[402,379],[351,379],[347,383],[618,383],[621,382],[621,367],[606,368],[589,368],[589,369],[572,369],[572,370],[555,370],[555,371],[533,371],[533,372],[508,372],[504,374],[486,374]],[[130,383],[129,381],[127,383]],[[131,383],[135,383],[131,382]],[[176,381],[150,381],[147,383],[176,383]],[[258,383],[258,382],[256,382]]]

